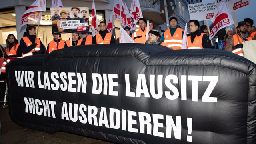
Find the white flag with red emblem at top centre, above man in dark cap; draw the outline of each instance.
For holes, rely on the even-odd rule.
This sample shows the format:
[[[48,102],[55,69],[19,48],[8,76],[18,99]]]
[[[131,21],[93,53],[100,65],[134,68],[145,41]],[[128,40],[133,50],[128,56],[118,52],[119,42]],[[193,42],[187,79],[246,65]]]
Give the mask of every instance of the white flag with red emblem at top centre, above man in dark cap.
[[[140,9],[140,2],[138,0],[132,0],[130,16],[134,19],[135,24],[140,18],[143,18],[142,11]]]

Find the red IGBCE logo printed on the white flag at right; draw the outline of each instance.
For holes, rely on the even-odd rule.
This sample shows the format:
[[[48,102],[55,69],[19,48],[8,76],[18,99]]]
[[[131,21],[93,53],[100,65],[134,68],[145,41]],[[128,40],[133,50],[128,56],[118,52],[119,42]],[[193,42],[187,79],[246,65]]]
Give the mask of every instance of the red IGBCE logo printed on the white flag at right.
[[[212,28],[210,35],[213,37],[215,33],[218,32],[219,28],[227,24],[230,24],[230,18],[228,18],[228,14],[226,13],[222,13],[220,15],[217,14],[217,17],[213,24],[214,27]]]

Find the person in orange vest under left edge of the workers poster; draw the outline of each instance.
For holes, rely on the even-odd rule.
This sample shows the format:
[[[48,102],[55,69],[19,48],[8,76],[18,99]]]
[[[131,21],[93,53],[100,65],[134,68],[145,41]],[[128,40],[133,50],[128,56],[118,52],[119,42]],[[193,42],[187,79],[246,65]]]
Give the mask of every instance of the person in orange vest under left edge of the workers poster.
[[[65,46],[65,41],[59,38],[59,34],[52,34],[52,36],[53,40],[47,46],[47,54],[50,54],[54,50],[60,50]]]

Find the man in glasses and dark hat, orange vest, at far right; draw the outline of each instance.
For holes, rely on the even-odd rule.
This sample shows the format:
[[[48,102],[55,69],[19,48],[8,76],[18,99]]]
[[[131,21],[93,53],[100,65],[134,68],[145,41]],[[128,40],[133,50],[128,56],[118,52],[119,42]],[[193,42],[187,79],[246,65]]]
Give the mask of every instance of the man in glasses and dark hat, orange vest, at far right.
[[[243,41],[252,40],[252,36],[247,31],[247,27],[248,25],[246,22],[238,22],[238,26],[236,27],[237,32],[228,40],[228,44],[225,47],[225,50],[232,52],[237,48],[243,48]]]

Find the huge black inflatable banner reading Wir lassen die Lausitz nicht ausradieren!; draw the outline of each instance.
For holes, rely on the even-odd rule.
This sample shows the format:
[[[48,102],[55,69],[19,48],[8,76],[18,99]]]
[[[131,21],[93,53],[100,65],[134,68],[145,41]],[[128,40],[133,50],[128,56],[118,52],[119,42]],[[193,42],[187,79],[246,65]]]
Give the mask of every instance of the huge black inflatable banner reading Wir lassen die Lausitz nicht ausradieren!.
[[[254,144],[256,65],[223,50],[85,45],[6,65],[10,117],[116,143]]]

